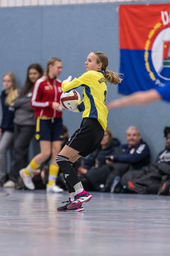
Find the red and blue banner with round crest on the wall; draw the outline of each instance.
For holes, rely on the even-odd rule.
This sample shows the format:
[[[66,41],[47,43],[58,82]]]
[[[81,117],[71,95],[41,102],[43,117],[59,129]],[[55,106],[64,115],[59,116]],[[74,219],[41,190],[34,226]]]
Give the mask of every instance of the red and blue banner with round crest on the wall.
[[[170,82],[170,4],[122,5],[119,9],[119,92],[128,95]]]

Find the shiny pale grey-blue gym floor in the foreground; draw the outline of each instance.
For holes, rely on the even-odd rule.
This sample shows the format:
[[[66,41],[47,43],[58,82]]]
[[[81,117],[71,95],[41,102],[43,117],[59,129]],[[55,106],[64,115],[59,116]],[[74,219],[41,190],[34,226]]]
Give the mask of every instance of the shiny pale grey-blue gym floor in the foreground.
[[[0,255],[169,255],[169,196],[93,195],[84,212],[60,213],[67,192],[0,188]]]

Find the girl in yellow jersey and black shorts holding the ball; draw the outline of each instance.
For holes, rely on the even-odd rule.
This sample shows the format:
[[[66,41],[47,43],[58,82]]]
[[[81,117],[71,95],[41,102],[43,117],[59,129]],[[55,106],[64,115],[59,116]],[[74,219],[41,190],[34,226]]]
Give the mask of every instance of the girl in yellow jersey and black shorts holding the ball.
[[[108,109],[105,105],[107,95],[106,82],[118,84],[121,79],[111,70],[106,70],[108,58],[102,52],[92,52],[85,62],[86,73],[79,78],[70,76],[62,82],[63,92],[83,87],[83,100],[77,111],[83,112],[80,128],[69,138],[60,154],[57,164],[62,169],[70,197],[66,205],[57,208],[60,211],[84,210],[82,203],[90,201],[91,195],[84,191],[72,164],[81,156],[94,151],[103,139],[107,127]],[[71,82],[72,80],[72,82]]]

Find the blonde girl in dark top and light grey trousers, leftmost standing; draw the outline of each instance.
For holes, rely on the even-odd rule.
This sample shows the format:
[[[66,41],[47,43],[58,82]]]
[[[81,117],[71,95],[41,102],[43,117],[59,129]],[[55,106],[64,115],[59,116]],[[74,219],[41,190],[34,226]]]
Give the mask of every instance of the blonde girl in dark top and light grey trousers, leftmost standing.
[[[3,75],[3,90],[1,92],[2,119],[0,126],[0,186],[3,186],[7,178],[7,151],[11,149],[13,142],[13,101],[18,96],[16,78],[13,73]]]

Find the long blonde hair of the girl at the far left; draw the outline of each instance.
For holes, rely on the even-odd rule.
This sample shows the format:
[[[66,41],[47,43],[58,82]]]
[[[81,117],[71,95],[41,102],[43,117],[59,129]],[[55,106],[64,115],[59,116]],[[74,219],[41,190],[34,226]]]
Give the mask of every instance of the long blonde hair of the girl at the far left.
[[[6,105],[12,107],[14,105],[14,100],[16,100],[16,97],[18,97],[18,89],[16,88],[16,77],[13,73],[8,72],[3,75],[3,78],[6,75],[8,75],[8,77],[11,78],[13,86],[10,89],[6,90],[7,96],[5,102]]]

